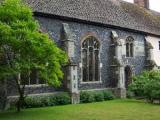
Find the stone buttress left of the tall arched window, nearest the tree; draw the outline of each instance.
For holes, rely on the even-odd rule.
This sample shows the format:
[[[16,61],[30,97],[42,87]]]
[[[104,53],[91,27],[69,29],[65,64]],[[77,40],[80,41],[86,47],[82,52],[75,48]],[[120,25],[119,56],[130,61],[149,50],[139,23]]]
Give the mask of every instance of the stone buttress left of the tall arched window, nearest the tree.
[[[65,87],[71,94],[72,104],[79,103],[77,63],[75,60],[75,35],[67,23],[62,23],[61,40],[69,63],[65,68]]]

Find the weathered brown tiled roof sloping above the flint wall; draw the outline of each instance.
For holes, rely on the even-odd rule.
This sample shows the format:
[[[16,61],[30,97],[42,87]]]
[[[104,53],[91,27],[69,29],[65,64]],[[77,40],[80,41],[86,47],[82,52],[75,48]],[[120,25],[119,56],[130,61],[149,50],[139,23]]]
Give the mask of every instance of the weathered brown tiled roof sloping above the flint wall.
[[[34,12],[160,35],[160,14],[121,0],[25,0]]]

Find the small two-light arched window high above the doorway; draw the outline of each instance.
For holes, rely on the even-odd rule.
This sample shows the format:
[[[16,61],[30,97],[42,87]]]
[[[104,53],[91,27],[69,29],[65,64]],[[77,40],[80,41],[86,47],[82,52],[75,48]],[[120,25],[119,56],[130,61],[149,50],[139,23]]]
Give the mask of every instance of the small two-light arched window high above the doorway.
[[[126,39],[126,57],[133,57],[133,51],[134,51],[134,39],[133,37],[127,37]]]

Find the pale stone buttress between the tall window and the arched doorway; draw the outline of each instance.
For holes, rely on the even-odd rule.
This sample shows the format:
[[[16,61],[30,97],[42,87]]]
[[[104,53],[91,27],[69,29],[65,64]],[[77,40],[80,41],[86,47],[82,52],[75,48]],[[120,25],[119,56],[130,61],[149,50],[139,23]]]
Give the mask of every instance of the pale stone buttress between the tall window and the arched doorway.
[[[111,63],[112,73],[115,76],[115,94],[120,98],[126,97],[125,79],[124,79],[124,65],[122,62],[122,43],[123,40],[118,38],[116,31],[112,31],[112,46],[114,47],[113,61]],[[114,69],[113,69],[114,68]]]

